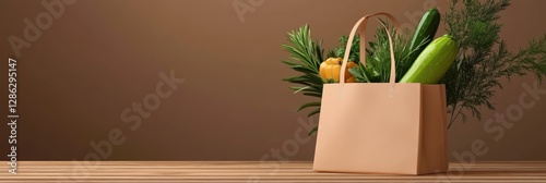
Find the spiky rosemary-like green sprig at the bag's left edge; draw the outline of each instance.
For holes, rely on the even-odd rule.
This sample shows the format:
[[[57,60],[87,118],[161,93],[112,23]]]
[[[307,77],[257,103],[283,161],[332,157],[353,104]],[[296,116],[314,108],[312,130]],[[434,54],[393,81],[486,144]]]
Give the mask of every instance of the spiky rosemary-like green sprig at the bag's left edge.
[[[324,84],[319,75],[320,63],[324,60],[322,41],[313,41],[311,39],[309,25],[304,25],[299,29],[288,33],[287,39],[290,45],[282,45],[282,47],[288,51],[292,54],[292,59],[297,62],[285,60],[283,60],[283,62],[290,65],[294,71],[301,73],[301,75],[284,78],[283,81],[299,85],[290,87],[290,89],[294,90],[294,94],[302,93],[306,96],[321,98],[322,85]],[[314,108],[308,113],[307,117],[319,113],[320,100],[304,103],[297,109],[297,111],[307,108]],[[312,135],[317,130],[318,126],[314,125],[308,135]]]

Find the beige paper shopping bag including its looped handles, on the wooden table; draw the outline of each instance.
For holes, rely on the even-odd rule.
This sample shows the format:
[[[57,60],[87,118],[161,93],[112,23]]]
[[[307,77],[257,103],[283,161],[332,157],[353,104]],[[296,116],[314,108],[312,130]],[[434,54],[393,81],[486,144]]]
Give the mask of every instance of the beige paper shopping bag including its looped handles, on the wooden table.
[[[365,49],[365,27],[360,19],[351,32],[345,50],[360,29]],[[360,25],[361,24],[361,25]],[[389,35],[390,38],[390,35]],[[393,174],[446,172],[447,111],[444,85],[395,83],[391,42],[390,83],[325,84],[319,119],[313,170]],[[365,57],[361,54],[361,61]],[[343,58],[345,70],[348,51]],[[344,78],[345,72],[340,72]]]

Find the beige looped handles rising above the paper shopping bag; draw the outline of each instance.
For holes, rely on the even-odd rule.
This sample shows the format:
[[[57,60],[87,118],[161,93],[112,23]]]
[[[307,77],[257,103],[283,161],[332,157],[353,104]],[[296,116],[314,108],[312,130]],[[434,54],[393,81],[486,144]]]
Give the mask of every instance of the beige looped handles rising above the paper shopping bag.
[[[358,22],[356,22],[355,26],[353,26],[353,29],[351,30],[351,34],[349,34],[348,39],[347,39],[347,46],[345,47],[345,54],[343,56],[343,63],[341,66],[341,72],[340,72],[340,78],[341,78],[340,84],[345,83],[345,80],[344,80],[345,72],[344,71],[347,68],[348,54],[351,52],[351,47],[353,46],[353,39],[355,38],[356,29],[360,29],[360,61],[363,62],[363,65],[366,65],[366,34],[365,34],[366,33],[366,25],[368,23],[368,17],[378,16],[378,15],[384,15],[384,16],[389,17],[389,20],[391,20],[394,23],[394,27],[396,29],[399,29],[400,24],[399,24],[397,20],[394,19],[393,15],[385,13],[385,12],[368,14],[368,15],[361,17],[360,20],[358,20]],[[389,28],[383,23],[381,23],[381,24],[383,25],[383,27],[387,30],[387,36],[389,37],[389,47],[391,50],[391,77],[390,77],[389,83],[394,84],[395,78],[396,78],[396,66],[395,66],[396,62],[394,60],[394,49],[392,46],[392,37],[391,37],[391,33],[389,32]]]

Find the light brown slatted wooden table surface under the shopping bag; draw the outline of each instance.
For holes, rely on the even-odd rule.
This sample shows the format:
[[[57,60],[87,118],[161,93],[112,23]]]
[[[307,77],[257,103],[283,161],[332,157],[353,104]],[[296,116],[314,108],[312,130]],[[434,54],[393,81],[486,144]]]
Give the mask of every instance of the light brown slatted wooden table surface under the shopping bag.
[[[20,161],[0,182],[546,182],[546,161],[450,163],[427,175],[324,173],[310,161]]]

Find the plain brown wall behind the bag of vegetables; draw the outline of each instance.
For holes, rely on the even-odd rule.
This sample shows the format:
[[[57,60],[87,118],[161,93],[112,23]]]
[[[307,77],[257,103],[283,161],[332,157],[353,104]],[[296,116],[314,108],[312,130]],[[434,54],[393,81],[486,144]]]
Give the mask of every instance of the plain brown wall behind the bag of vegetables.
[[[46,11],[40,2],[0,2],[1,60],[16,57],[7,38],[24,38],[24,20],[34,23]],[[430,3],[447,10],[444,0],[265,0],[254,1],[257,7],[241,21],[234,2],[95,0],[64,5],[63,14],[17,58],[19,159],[84,159],[97,152],[90,143],[104,145],[108,133],[121,132],[124,142],[111,149],[103,146],[111,154],[100,159],[274,160],[268,156],[281,149],[284,158],[310,160],[314,137],[301,139],[307,130],[298,123],[298,119],[309,120],[295,112],[309,99],[292,95],[289,85],[281,81],[295,74],[280,62],[288,58],[280,47],[287,42],[285,33],[309,23],[312,36],[332,48],[366,13],[388,11],[411,27]],[[544,7],[546,1],[518,0],[503,13],[502,37],[511,50],[545,33],[546,25],[537,22],[545,15]],[[7,63],[1,63],[5,73]],[[183,84],[161,99],[149,118],[130,112],[128,118],[142,120],[132,131],[134,122],[123,122],[123,111],[153,97],[163,81],[159,73],[171,71]],[[449,131],[452,158],[470,155],[472,143],[482,139],[488,152],[472,154],[479,160],[546,160],[546,95],[525,109],[500,141],[492,139],[496,133],[484,132],[484,122],[518,103],[525,91],[521,85],[533,81],[530,76],[506,85],[495,99],[498,109],[483,110],[483,122],[458,122]],[[7,95],[7,89],[0,90],[0,96]],[[0,103],[7,103],[7,98]],[[4,118],[5,105],[1,111]],[[5,125],[0,137],[8,138]],[[7,155],[9,146],[0,142],[0,154]]]

